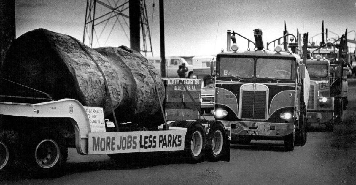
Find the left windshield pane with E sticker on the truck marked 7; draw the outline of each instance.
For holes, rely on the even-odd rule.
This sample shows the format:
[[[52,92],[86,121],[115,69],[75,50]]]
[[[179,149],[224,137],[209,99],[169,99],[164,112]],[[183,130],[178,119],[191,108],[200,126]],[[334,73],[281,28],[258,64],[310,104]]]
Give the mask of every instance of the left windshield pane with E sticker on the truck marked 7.
[[[239,78],[252,78],[255,60],[253,58],[220,58],[220,76],[234,76]]]

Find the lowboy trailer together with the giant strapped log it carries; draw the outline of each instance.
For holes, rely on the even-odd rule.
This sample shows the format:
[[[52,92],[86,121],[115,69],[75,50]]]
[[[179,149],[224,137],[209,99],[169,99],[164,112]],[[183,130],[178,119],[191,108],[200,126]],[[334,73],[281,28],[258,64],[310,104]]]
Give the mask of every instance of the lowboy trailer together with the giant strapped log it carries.
[[[201,80],[161,79],[125,46],[91,49],[37,29],[14,41],[0,77],[0,169],[53,175],[67,148],[118,161],[179,150],[189,161],[229,161],[230,128],[199,119]]]

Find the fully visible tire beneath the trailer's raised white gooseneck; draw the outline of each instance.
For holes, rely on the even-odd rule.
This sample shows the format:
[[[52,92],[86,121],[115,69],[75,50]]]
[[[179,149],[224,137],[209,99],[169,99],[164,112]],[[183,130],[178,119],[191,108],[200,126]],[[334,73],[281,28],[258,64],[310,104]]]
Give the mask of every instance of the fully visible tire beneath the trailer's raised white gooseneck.
[[[48,128],[31,135],[26,150],[30,173],[36,178],[61,174],[68,157],[64,139]]]

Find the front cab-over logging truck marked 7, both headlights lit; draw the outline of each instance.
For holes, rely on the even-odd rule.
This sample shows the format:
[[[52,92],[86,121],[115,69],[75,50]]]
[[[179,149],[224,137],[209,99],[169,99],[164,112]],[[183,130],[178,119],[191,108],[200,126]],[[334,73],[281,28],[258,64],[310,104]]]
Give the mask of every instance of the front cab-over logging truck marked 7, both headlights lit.
[[[238,50],[236,36],[248,41],[247,51]],[[284,148],[292,151],[294,145],[304,145],[307,140],[309,76],[295,54],[297,43],[289,44],[290,52],[283,52],[281,45],[268,51],[262,31],[255,29],[254,36],[256,43],[227,31],[227,51],[222,49],[216,56],[216,72],[211,68],[215,77],[214,117],[231,127],[231,143],[283,140]]]

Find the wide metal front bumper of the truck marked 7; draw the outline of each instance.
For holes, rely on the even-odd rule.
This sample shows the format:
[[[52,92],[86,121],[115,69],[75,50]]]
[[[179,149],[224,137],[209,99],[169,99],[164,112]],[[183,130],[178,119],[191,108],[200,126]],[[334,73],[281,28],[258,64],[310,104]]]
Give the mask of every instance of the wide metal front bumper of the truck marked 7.
[[[269,122],[240,122],[224,121],[225,127],[231,127],[232,141],[247,137],[249,139],[281,140],[284,136],[294,132],[293,123],[269,123]]]

